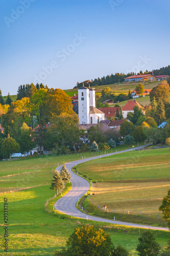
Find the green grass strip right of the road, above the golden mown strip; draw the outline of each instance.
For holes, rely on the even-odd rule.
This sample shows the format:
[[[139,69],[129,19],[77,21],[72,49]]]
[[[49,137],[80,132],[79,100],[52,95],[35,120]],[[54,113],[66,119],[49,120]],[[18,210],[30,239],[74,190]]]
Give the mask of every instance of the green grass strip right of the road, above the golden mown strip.
[[[170,148],[122,153],[91,160],[76,167],[93,182],[169,178]]]

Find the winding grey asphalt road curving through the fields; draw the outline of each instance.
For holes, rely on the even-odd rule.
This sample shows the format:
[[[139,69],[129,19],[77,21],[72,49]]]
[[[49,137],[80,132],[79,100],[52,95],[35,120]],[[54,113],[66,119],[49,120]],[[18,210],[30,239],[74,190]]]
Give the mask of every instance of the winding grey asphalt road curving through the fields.
[[[143,146],[139,146],[137,148],[142,148]],[[135,150],[136,148],[132,148],[132,150]],[[120,221],[113,221],[113,220],[108,220],[108,219],[103,219],[100,217],[94,217],[90,216],[87,214],[84,214],[82,211],[78,210],[76,208],[76,203],[78,200],[86,194],[86,192],[89,190],[90,185],[89,183],[81,178],[80,176],[74,174],[71,171],[71,168],[74,167],[76,164],[84,163],[93,159],[98,159],[101,157],[106,157],[106,156],[111,156],[115,154],[120,154],[124,152],[131,151],[125,150],[125,151],[119,151],[115,153],[110,153],[110,154],[105,154],[102,156],[95,156],[95,157],[90,157],[86,159],[81,159],[77,160],[74,162],[69,162],[65,163],[66,168],[68,169],[69,173],[71,174],[71,183],[72,183],[72,188],[71,190],[62,198],[60,198],[54,205],[55,209],[63,212],[63,214],[69,215],[69,216],[74,216],[77,218],[82,218],[86,220],[92,220],[92,221],[100,221],[100,222],[108,222],[108,223],[113,223],[113,224],[118,224],[118,225],[125,225],[125,226],[131,226],[131,227],[138,227],[138,228],[150,228],[150,229],[156,229],[156,230],[166,230],[168,231],[168,228],[163,228],[163,227],[154,227],[154,226],[148,226],[148,225],[139,225],[139,224],[133,224],[133,223],[127,223],[127,222],[120,222]],[[60,171],[62,168],[62,165],[58,166],[56,170]]]

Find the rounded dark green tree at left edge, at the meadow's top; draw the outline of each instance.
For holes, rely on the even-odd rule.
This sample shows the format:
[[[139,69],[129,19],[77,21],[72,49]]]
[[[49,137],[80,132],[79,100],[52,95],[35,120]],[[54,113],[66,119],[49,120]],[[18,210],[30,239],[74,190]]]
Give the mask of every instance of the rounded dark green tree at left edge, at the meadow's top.
[[[1,146],[1,154],[5,157],[9,157],[11,159],[12,153],[19,153],[20,146],[16,142],[15,139],[10,137],[8,134],[8,138],[4,139],[2,146]]]

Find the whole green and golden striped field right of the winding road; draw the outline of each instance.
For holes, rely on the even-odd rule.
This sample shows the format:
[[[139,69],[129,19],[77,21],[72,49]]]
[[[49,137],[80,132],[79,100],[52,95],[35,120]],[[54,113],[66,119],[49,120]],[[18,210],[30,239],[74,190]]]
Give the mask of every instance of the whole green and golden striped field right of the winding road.
[[[83,202],[85,209],[105,218],[167,226],[158,208],[170,186],[169,153],[170,148],[127,152],[78,165],[76,171],[92,180],[95,194]]]

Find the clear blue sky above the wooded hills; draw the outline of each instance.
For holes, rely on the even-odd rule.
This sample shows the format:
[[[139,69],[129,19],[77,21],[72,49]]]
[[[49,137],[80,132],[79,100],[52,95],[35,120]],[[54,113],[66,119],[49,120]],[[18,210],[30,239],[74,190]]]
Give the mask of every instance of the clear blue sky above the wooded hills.
[[[170,64],[169,0],[1,1],[1,90],[79,81]]]

